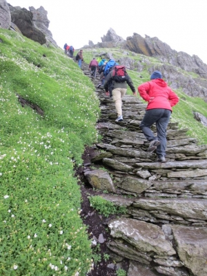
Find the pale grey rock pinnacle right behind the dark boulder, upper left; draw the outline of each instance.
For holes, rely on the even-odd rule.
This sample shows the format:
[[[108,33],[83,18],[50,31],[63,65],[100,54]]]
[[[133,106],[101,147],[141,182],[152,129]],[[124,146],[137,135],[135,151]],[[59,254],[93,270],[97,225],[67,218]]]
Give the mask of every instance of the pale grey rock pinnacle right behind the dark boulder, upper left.
[[[43,8],[43,6],[40,6],[37,10],[35,10],[34,7],[29,7],[30,12],[33,14],[32,21],[34,23],[34,26],[41,30],[43,34],[46,35],[46,39],[48,42],[52,43],[55,47],[57,47],[56,41],[52,38],[52,32],[48,30],[50,21],[48,20],[48,12]]]

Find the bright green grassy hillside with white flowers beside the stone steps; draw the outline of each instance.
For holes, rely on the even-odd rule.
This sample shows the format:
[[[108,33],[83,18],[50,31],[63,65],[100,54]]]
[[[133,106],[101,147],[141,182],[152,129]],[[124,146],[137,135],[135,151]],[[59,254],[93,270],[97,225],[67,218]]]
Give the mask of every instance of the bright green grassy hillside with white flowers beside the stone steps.
[[[79,217],[74,167],[82,162],[84,146],[98,139],[94,87],[63,50],[3,29],[0,39],[1,275],[86,275],[92,252]],[[85,61],[103,50],[84,50]],[[115,58],[122,55],[110,51]],[[148,80],[147,68],[146,63],[143,79],[130,72],[135,86]],[[206,144],[206,128],[192,114],[207,117],[206,103],[178,93],[173,118]],[[22,108],[17,94],[37,104],[44,116]]]

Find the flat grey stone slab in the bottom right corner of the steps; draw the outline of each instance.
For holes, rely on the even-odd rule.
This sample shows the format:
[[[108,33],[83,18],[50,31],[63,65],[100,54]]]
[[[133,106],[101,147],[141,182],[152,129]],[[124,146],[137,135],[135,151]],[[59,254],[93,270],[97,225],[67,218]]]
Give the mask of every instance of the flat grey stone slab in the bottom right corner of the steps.
[[[206,276],[207,228],[172,226],[172,233],[181,261],[193,275]]]

